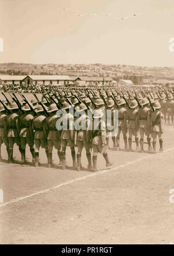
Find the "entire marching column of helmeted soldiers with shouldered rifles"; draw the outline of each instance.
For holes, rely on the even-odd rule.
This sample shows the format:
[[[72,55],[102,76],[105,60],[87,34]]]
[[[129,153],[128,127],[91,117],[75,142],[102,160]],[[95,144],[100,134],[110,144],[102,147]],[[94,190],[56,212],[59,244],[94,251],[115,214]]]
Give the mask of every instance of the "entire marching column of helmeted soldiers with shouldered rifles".
[[[46,87],[45,87],[46,88]],[[19,147],[21,162],[26,163],[26,145],[30,147],[32,162],[39,166],[39,150],[45,149],[48,167],[53,166],[53,147],[57,150],[59,165],[66,168],[67,145],[71,149],[73,167],[82,170],[81,153],[85,147],[88,169],[97,171],[97,155],[101,153],[106,166],[113,163],[108,158],[110,132],[103,121],[103,110],[118,110],[118,133],[111,137],[115,152],[120,150],[119,140],[122,133],[125,150],[132,151],[132,138],[135,136],[136,151],[144,152],[145,138],[149,152],[157,153],[157,138],[162,147],[164,123],[173,124],[174,101],[171,88],[143,91],[123,88],[91,89],[49,88],[43,89],[42,99],[33,93],[30,101],[23,93],[3,93],[0,100],[0,157],[1,145],[5,143],[8,162],[14,163],[13,146]],[[2,97],[1,97],[2,99]],[[79,116],[73,117],[71,107]],[[57,110],[66,112],[68,128],[57,130],[56,122],[60,116]],[[92,118],[87,112],[90,110]],[[81,114],[82,113],[82,114]],[[75,130],[74,120],[85,125],[85,129]],[[96,129],[96,122],[98,120]],[[73,121],[72,121],[73,120]],[[113,120],[111,120],[113,121]],[[92,125],[92,129],[86,129]],[[77,147],[77,152],[75,149]],[[93,154],[92,154],[93,152]],[[1,158],[2,160],[2,158]]]

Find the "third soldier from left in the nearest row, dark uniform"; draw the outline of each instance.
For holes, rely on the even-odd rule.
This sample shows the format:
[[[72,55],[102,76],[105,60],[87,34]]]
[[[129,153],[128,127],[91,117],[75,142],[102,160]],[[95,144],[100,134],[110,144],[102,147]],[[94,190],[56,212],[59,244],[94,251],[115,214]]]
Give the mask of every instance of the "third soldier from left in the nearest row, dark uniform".
[[[32,155],[32,162],[34,162],[34,140],[31,138],[30,134],[30,123],[33,118],[30,106],[26,104],[21,108],[24,114],[21,114],[19,118],[20,124],[20,145],[21,145],[21,158],[22,161],[26,162],[26,144],[30,147],[30,152]]]

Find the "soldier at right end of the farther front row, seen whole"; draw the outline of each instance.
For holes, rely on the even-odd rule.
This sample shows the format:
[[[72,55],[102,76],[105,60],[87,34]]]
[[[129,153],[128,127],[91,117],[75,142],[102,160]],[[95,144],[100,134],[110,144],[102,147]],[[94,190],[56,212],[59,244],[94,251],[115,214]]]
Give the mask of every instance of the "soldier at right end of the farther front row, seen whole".
[[[157,153],[156,144],[157,144],[157,135],[160,142],[160,152],[163,151],[162,148],[162,124],[164,123],[164,115],[160,111],[161,105],[159,102],[154,103],[154,112],[150,114],[150,124],[151,124],[151,132],[153,138],[153,150],[154,154]]]

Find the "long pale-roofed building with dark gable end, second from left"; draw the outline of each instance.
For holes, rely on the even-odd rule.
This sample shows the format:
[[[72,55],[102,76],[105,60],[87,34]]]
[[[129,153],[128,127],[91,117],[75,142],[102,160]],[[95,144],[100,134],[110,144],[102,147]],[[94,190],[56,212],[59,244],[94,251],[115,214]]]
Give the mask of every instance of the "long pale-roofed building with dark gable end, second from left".
[[[31,84],[39,85],[66,85],[69,84],[71,78],[68,75],[29,75]]]

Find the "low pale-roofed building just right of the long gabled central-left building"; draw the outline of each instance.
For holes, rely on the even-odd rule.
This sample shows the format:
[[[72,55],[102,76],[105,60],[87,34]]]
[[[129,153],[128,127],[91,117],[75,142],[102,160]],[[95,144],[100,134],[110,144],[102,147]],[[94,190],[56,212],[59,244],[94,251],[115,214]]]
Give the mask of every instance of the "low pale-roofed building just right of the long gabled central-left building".
[[[111,85],[113,79],[109,77],[71,77],[74,82],[84,81],[86,85]]]

